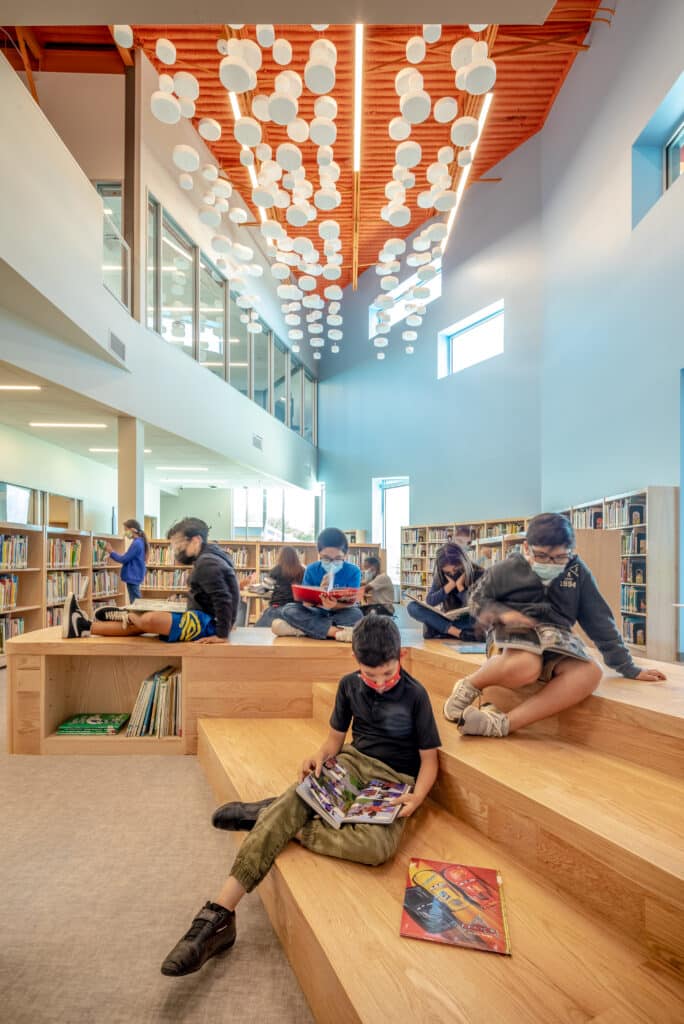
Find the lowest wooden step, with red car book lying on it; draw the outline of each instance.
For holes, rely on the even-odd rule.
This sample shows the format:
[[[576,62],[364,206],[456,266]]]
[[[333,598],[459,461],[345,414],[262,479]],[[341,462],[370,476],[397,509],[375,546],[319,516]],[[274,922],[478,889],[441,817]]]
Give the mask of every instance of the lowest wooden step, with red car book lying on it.
[[[200,762],[218,801],[260,799],[292,782],[324,734],[310,719],[203,720]],[[412,855],[501,870],[510,958],[399,938]],[[365,867],[292,843],[258,892],[325,1024],[674,1024],[681,1009],[677,980],[624,935],[429,803],[391,863]]]

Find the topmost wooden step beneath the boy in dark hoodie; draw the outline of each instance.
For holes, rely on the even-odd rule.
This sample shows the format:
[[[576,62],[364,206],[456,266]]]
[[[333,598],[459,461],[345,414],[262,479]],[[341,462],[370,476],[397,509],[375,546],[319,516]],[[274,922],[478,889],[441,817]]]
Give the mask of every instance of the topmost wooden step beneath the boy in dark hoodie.
[[[408,652],[409,672],[433,694],[447,697],[457,679],[474,672],[481,654],[461,654],[438,640]],[[633,764],[684,777],[684,667],[648,663],[667,676],[665,683],[640,683],[610,670],[587,700],[544,722],[528,732],[590,746]],[[485,699],[510,711],[539,685],[517,691],[488,687]]]

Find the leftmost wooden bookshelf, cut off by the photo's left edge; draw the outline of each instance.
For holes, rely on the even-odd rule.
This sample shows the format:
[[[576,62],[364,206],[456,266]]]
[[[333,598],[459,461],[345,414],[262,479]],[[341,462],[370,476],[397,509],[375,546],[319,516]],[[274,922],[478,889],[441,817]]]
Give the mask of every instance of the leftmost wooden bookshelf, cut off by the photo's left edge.
[[[0,522],[0,668],[6,640],[44,625],[44,564],[42,526]]]

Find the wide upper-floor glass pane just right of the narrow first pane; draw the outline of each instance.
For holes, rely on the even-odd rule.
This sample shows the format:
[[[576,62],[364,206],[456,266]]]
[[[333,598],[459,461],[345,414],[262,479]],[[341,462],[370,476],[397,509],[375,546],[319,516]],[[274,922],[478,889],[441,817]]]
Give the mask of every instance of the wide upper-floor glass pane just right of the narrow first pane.
[[[164,214],[162,221],[162,337],[193,354],[195,247]]]

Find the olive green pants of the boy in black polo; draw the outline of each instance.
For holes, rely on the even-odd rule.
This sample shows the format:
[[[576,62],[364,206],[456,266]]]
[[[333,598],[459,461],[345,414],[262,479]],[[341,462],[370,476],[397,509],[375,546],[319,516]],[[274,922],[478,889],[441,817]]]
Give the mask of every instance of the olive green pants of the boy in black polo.
[[[350,744],[338,754],[338,760],[358,775],[365,785],[373,778],[414,784],[411,775],[393,771],[382,761],[360,754]],[[248,893],[268,873],[279,853],[298,833],[301,845],[307,850],[359,864],[383,864],[396,852],[405,818],[397,817],[391,825],[357,824],[333,828],[314,816],[313,809],[304,803],[296,790],[295,782],[264,808],[240,848],[230,874]]]

